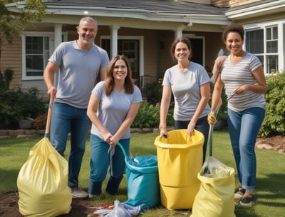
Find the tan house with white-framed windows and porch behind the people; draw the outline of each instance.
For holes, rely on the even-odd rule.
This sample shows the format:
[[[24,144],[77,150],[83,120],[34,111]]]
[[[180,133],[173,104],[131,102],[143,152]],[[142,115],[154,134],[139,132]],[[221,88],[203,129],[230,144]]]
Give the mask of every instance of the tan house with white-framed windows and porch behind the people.
[[[95,44],[110,58],[125,54],[133,78],[141,88],[161,79],[175,64],[170,46],[177,36],[192,42],[193,58],[209,73],[220,51],[222,28],[232,22],[246,30],[244,49],[257,54],[265,74],[284,70],[284,0],[47,0],[47,15],[36,25],[14,37],[12,45],[1,45],[0,69],[14,69],[11,87],[36,87],[46,94],[43,70],[53,50],[62,41],[78,38],[76,26],[83,16],[98,21]],[[24,1],[7,4],[11,11]]]

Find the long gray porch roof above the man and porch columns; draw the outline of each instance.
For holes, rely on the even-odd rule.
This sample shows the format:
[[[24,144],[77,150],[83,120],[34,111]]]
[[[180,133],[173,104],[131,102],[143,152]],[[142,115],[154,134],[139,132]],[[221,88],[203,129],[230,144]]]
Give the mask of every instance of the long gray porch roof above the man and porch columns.
[[[147,21],[181,22],[191,17],[200,24],[225,24],[223,8],[187,0],[46,0],[46,12],[55,15],[84,15],[142,19]],[[7,4],[11,11],[25,2]]]

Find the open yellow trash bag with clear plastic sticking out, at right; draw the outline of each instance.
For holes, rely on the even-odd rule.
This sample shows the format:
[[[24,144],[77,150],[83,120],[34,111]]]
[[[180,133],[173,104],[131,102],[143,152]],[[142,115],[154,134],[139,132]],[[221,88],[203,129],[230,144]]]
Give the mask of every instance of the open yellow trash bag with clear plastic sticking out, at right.
[[[215,166],[203,166],[197,175],[201,185],[190,217],[234,217],[234,168],[217,166],[222,163],[212,156],[208,162]]]

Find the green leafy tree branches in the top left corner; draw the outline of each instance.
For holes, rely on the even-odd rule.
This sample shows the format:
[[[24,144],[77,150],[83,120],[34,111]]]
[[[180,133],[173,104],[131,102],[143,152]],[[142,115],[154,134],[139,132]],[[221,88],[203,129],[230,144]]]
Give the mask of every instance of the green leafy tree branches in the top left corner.
[[[12,44],[14,35],[24,31],[26,26],[35,26],[34,24],[41,21],[41,17],[45,15],[46,4],[41,0],[21,1],[19,5],[23,7],[17,8],[17,11],[9,11],[6,4],[15,2],[19,1],[0,0],[0,45],[3,39]]]

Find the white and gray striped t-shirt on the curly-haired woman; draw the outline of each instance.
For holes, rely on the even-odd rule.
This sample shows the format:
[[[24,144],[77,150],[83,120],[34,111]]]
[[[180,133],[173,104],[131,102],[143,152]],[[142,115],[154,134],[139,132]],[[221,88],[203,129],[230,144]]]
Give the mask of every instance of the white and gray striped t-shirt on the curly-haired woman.
[[[224,60],[221,79],[224,82],[227,97],[232,96],[234,90],[244,84],[257,84],[252,75],[252,71],[261,66],[261,61],[257,56],[247,53],[238,64],[232,65],[230,56]],[[233,111],[244,111],[252,107],[261,107],[265,109],[264,94],[256,94],[247,91],[245,94],[233,95],[228,100],[227,106]]]

